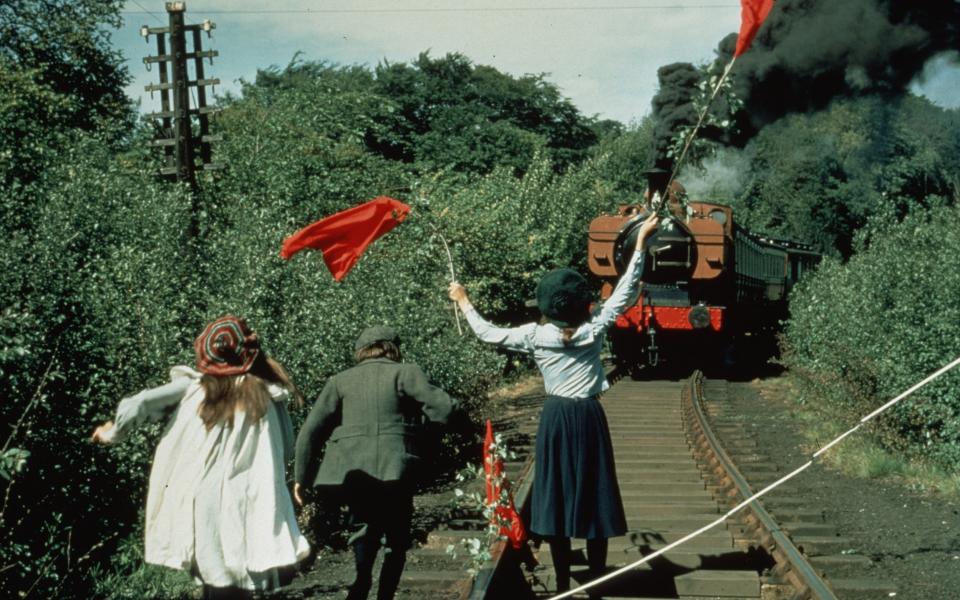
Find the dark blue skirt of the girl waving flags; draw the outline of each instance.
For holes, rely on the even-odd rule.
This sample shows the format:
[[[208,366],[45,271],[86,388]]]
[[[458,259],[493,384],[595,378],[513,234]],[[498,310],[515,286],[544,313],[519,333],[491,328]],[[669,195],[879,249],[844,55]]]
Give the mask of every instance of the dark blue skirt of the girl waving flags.
[[[537,430],[530,530],[541,537],[627,532],[607,416],[596,398],[547,396]]]

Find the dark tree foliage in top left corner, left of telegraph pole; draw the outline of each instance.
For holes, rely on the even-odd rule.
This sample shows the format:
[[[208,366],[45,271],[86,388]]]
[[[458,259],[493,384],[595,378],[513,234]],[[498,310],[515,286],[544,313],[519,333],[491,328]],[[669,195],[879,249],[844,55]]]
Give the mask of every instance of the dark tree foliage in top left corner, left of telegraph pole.
[[[129,76],[110,47],[120,0],[0,4],[0,183],[30,180],[73,129],[128,114]]]

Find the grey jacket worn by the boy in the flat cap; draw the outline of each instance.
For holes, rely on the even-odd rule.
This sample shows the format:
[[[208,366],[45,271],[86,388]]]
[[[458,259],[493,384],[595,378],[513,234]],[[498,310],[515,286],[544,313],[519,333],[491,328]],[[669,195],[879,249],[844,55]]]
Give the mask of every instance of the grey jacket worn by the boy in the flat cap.
[[[453,405],[414,364],[372,358],[342,371],[327,381],[297,435],[296,481],[340,485],[352,471],[408,479],[420,462],[415,437],[423,417],[444,423]]]

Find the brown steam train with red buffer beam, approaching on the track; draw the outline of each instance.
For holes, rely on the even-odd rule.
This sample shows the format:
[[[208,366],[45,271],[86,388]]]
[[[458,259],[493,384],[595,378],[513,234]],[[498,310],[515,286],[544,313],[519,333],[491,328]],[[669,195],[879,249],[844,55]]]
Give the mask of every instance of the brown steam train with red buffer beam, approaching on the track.
[[[669,214],[647,243],[645,285],[609,334],[615,360],[628,369],[696,354],[733,362],[751,336],[772,339],[787,316],[790,288],[820,260],[809,245],[747,231],[729,206],[681,201],[685,192],[674,186]],[[650,210],[621,206],[590,223],[587,261],[602,299],[626,268]]]

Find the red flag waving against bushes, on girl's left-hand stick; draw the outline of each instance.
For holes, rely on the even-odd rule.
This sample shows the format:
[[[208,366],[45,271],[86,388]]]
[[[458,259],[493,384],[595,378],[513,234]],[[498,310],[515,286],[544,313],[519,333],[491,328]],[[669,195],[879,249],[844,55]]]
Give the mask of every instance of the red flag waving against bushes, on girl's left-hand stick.
[[[337,281],[353,267],[374,240],[403,222],[410,207],[379,196],[307,225],[283,240],[280,256],[289,260],[304,248],[323,252],[323,262]]]

